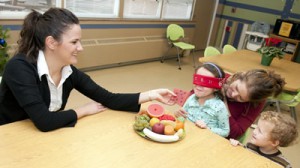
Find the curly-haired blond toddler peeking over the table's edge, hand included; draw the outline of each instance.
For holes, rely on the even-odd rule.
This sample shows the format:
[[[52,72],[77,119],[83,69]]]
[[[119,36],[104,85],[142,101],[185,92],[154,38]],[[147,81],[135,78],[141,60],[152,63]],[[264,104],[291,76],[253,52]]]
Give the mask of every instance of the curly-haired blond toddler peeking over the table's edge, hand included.
[[[257,127],[253,130],[250,141],[245,148],[260,154],[285,168],[291,168],[289,161],[283,157],[279,147],[287,147],[298,137],[296,122],[287,114],[273,111],[261,113]],[[239,141],[230,139],[234,146]]]

